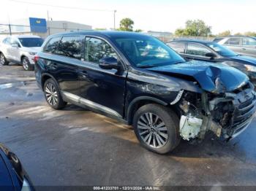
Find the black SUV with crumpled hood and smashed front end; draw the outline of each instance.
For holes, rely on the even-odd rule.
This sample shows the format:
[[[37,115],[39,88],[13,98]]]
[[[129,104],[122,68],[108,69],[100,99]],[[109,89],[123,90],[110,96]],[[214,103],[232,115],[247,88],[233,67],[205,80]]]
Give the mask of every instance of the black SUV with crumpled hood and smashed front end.
[[[145,34],[90,31],[49,36],[35,74],[54,109],[67,102],[133,125],[144,147],[170,152],[181,138],[211,130],[231,139],[255,114],[255,91],[241,71],[187,62]]]

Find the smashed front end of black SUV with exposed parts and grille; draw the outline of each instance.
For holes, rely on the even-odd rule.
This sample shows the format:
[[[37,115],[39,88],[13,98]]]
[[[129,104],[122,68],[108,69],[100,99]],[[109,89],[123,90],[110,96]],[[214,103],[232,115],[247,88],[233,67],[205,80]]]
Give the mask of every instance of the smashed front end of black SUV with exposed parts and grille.
[[[202,140],[211,130],[228,141],[248,127],[255,115],[255,102],[254,87],[247,82],[231,92],[181,90],[171,104],[180,112],[180,135],[184,140]]]

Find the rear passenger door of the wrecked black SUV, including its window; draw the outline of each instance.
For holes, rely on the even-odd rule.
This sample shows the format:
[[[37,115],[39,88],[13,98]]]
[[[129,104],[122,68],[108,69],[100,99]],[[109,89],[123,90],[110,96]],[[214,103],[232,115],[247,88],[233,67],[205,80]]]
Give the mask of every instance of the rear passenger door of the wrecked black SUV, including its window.
[[[81,61],[81,50],[84,36],[64,36],[50,39],[44,52],[48,56],[45,66],[59,84],[62,92],[79,95],[80,82],[78,66]]]

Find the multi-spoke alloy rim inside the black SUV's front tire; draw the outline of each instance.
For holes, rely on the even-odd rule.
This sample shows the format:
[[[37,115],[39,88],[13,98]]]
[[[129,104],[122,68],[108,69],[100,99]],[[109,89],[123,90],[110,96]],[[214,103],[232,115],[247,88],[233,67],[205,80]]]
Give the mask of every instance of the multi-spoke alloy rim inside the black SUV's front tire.
[[[157,114],[142,114],[138,120],[138,132],[140,138],[150,147],[159,148],[167,143],[165,122]]]

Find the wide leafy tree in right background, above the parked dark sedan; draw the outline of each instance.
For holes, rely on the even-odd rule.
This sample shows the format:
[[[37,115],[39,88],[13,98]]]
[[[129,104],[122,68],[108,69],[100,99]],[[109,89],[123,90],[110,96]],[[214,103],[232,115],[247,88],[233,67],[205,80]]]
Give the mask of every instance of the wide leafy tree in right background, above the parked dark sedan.
[[[175,34],[178,36],[209,36],[211,26],[206,26],[203,20],[187,20],[186,28],[178,28]]]

